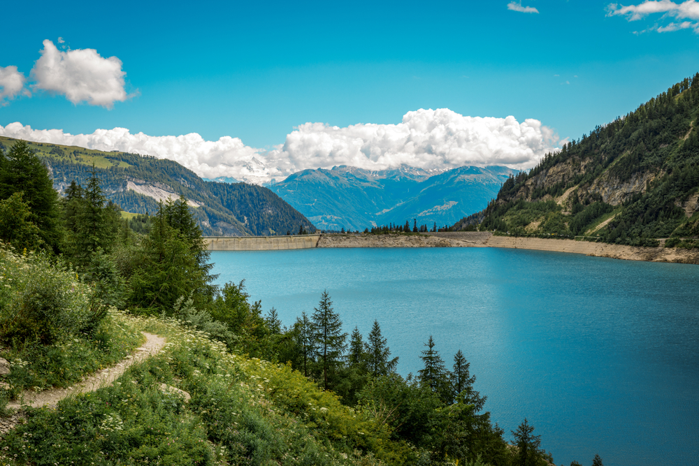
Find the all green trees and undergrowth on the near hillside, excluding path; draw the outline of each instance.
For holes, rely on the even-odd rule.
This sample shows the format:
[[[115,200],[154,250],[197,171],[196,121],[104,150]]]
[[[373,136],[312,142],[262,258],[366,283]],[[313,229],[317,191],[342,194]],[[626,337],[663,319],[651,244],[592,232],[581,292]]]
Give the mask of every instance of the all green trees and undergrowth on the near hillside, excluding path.
[[[430,337],[423,368],[401,377],[380,324],[344,333],[327,293],[282,326],[244,282],[215,286],[187,198],[125,221],[102,183],[93,168],[61,197],[27,143],[0,153],[0,421],[28,388],[117,363],[138,330],[169,346],[113,386],[23,408],[3,465],[553,462],[526,418],[508,435],[493,424],[461,351],[445,361]]]

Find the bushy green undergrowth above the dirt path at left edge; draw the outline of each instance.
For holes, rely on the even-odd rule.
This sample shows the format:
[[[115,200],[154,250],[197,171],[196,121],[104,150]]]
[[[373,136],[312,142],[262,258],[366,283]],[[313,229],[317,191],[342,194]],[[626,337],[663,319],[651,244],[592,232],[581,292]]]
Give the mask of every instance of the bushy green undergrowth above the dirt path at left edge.
[[[27,389],[70,386],[140,344],[123,314],[101,306],[71,268],[0,248],[0,357],[10,363],[0,407]]]

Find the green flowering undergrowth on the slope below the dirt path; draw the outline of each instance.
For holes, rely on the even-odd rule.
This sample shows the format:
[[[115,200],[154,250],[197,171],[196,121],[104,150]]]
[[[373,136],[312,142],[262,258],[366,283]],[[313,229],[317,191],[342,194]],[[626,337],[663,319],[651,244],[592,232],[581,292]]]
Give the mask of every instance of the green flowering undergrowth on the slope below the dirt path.
[[[0,465],[374,465],[413,454],[287,365],[231,354],[174,319],[114,319],[166,336],[165,349],[113,386],[27,408],[0,440]]]

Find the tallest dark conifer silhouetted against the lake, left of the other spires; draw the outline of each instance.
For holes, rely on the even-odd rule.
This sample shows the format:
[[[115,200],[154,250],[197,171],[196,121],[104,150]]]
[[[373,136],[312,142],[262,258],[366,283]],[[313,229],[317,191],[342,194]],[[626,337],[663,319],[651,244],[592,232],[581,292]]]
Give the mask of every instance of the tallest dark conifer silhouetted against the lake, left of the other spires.
[[[324,387],[330,388],[328,372],[333,374],[345,356],[347,333],[343,333],[343,322],[333,312],[333,303],[327,291],[323,291],[318,307],[313,312],[312,321],[315,328],[315,342],[318,359],[323,370]]]

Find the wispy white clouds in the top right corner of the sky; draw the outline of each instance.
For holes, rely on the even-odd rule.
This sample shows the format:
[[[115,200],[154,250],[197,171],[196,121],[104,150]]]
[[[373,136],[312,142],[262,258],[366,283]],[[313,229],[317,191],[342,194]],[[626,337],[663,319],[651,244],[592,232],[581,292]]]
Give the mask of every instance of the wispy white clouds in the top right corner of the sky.
[[[679,23],[671,22],[666,26],[652,28],[658,32],[694,29],[695,32],[699,33],[699,22],[696,22],[699,20],[698,0],[686,0],[682,3],[670,0],[646,0],[638,5],[619,6],[617,3],[610,3],[607,6],[607,16],[623,15],[628,21],[641,20],[654,13],[663,13],[665,17],[675,17],[678,20],[690,20]]]

